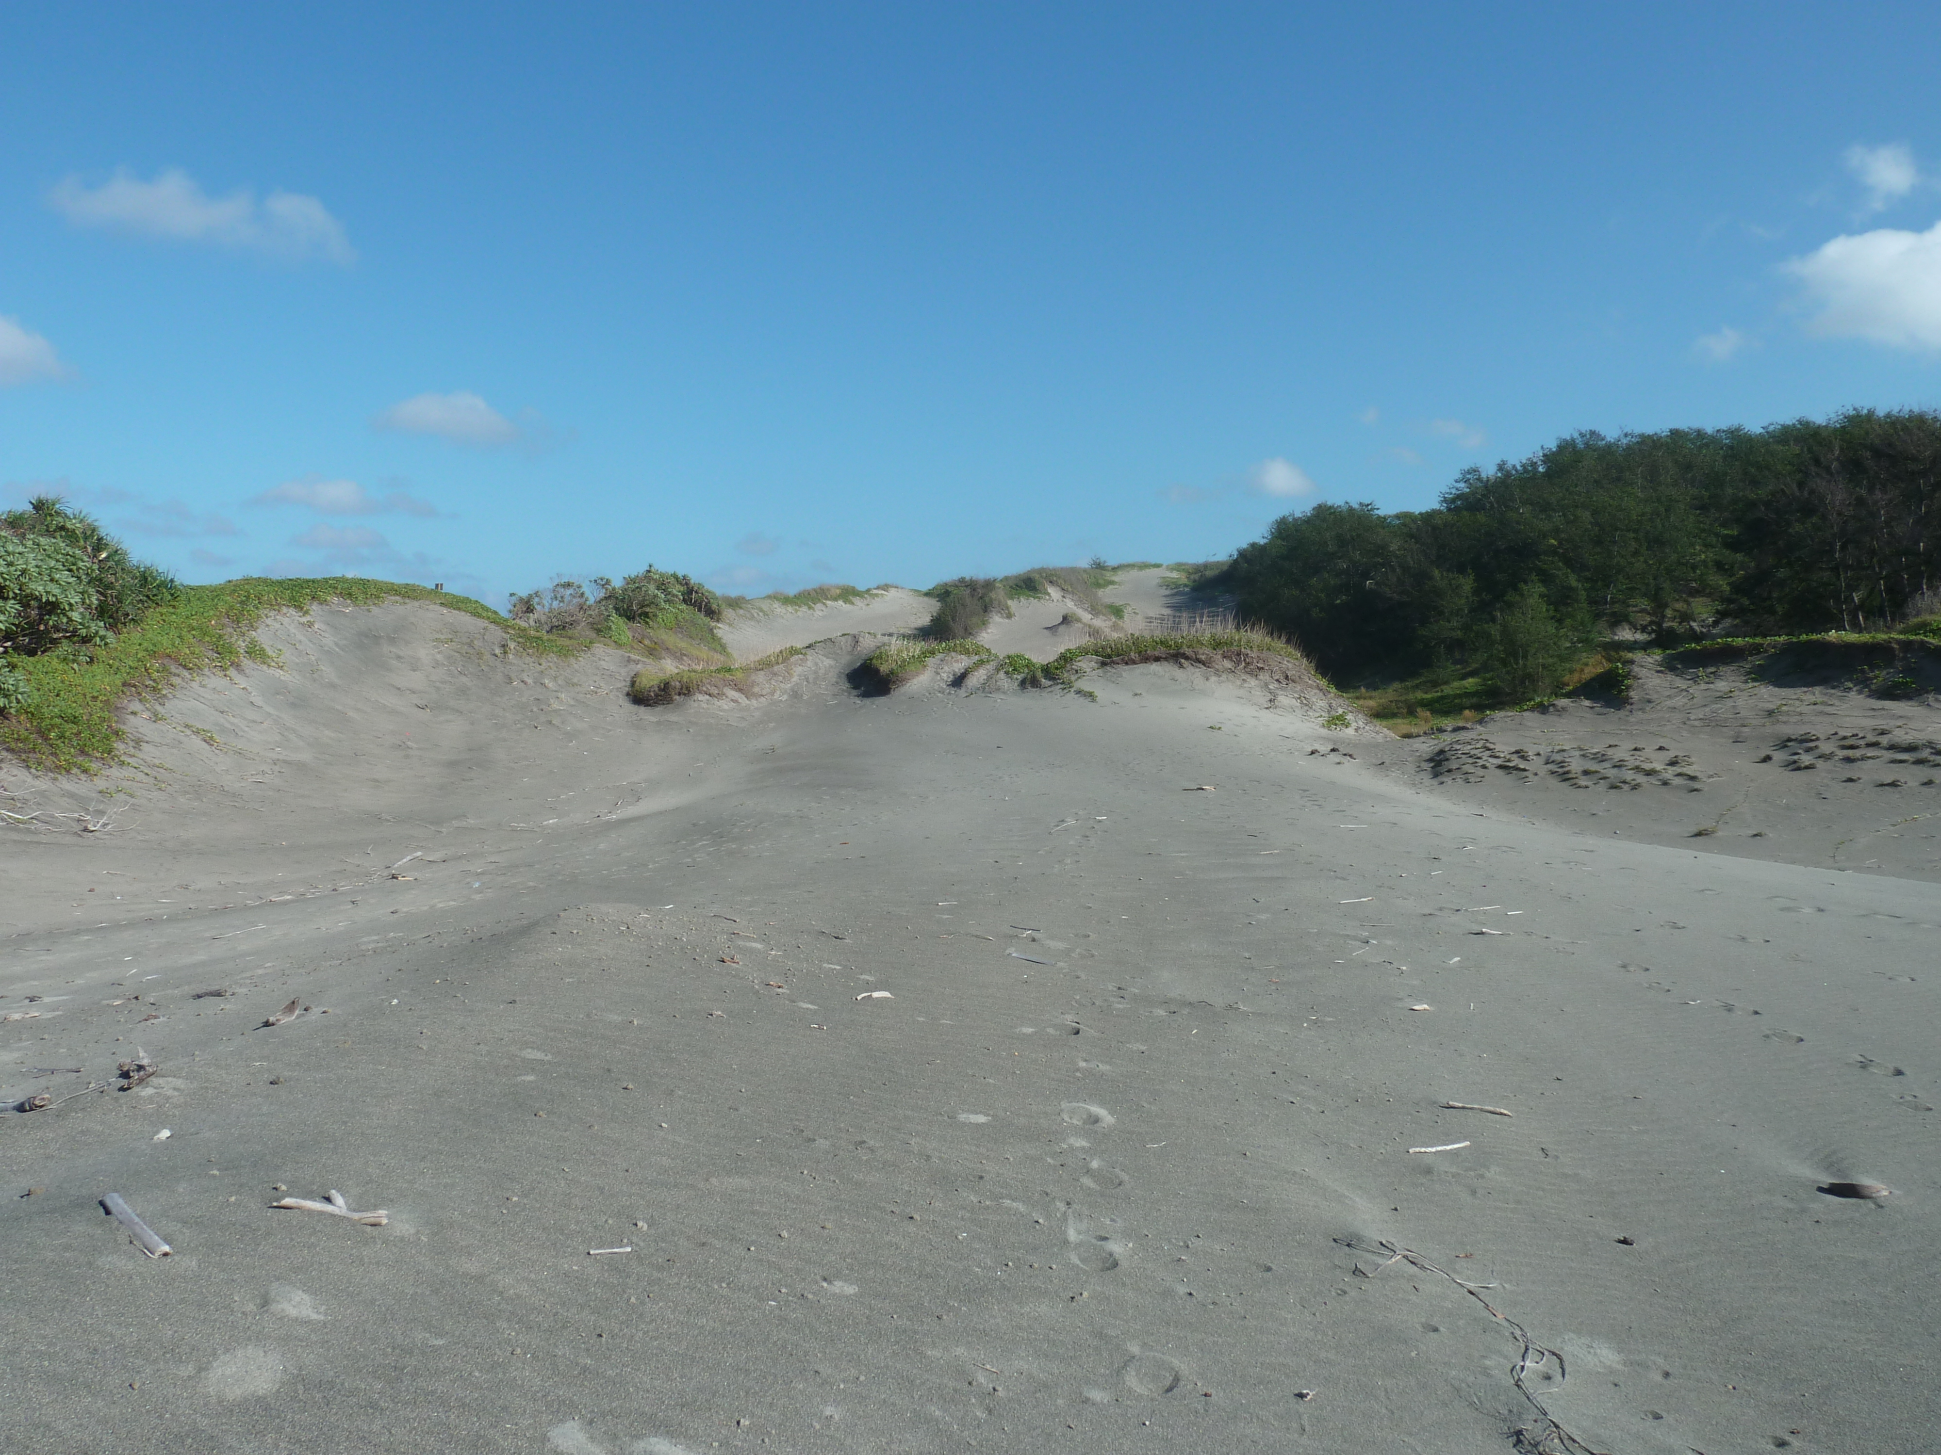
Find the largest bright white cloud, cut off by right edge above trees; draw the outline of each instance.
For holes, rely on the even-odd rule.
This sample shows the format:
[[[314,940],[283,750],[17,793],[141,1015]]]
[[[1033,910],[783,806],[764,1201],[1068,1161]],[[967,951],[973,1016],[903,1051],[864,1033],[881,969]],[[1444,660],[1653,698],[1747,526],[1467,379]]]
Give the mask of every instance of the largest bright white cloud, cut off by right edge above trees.
[[[1941,349],[1941,223],[1925,233],[1879,227],[1842,235],[1782,270],[1819,308],[1807,324],[1815,334]]]

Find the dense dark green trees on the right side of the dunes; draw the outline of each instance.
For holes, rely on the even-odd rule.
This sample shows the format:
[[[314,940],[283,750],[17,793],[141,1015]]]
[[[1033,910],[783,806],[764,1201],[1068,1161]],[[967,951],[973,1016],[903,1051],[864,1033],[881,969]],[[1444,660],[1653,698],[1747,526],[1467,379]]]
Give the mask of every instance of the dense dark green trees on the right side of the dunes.
[[[1518,702],[1613,644],[1883,630],[1941,609],[1941,415],[1570,435],[1434,510],[1316,504],[1209,586],[1339,681]]]

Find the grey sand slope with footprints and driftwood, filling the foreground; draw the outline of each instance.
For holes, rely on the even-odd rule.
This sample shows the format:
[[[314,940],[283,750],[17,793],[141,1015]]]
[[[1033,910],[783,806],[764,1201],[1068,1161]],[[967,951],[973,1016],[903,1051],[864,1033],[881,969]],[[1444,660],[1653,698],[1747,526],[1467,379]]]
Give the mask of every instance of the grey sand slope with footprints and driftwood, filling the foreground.
[[[268,638],[6,770],[113,828],[0,840],[0,1088],[159,1071],[0,1123],[0,1447],[1931,1441],[1941,892],[1689,840],[1710,737]],[[1429,764],[1545,726],[1669,782]]]

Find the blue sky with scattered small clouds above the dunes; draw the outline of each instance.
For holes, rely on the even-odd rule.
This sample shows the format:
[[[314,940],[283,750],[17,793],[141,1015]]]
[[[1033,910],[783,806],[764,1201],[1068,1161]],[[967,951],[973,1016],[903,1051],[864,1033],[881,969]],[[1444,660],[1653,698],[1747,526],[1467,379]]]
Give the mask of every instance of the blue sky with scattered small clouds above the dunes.
[[[0,14],[0,495],[503,603],[1941,400],[1929,6]]]

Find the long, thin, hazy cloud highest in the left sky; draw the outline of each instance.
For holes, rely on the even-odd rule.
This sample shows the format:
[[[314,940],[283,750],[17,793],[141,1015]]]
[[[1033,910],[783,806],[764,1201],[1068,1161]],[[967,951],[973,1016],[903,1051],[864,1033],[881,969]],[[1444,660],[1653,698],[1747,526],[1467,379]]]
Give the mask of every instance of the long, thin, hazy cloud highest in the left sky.
[[[262,202],[248,188],[212,198],[181,167],[144,182],[126,167],[101,186],[68,177],[47,194],[76,227],[107,227],[138,237],[177,242],[210,242],[245,252],[262,252],[285,262],[322,258],[349,266],[357,260],[344,223],[322,202],[301,192],[272,192]]]

